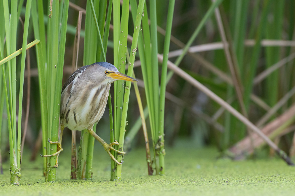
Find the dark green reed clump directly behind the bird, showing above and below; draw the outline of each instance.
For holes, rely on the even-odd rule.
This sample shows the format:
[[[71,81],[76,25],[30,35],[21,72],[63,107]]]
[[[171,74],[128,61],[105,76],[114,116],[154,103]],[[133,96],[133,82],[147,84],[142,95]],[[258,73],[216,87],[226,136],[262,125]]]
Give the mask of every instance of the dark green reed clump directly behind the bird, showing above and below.
[[[91,9],[91,12],[90,12]],[[109,7],[109,10],[112,8]],[[107,46],[108,35],[104,36],[104,29],[106,14],[106,2],[103,1],[87,1],[86,6],[86,27],[85,27],[85,41],[84,41],[84,65],[91,64],[98,61],[106,61],[105,49]],[[95,12],[97,11],[98,14]],[[111,13],[111,12],[110,12]],[[110,13],[108,13],[107,21],[110,22]],[[97,20],[99,17],[99,22]],[[109,28],[109,22],[106,26]],[[107,30],[108,32],[108,30]],[[103,44],[102,37],[104,36]],[[106,39],[105,39],[106,38]],[[99,42],[97,46],[97,41]],[[96,124],[93,127],[96,130]],[[86,138],[87,137],[87,138]],[[79,147],[79,161],[77,166],[77,175],[81,179],[91,179],[92,177],[92,160],[94,151],[94,137],[92,137],[86,130],[81,134],[81,145]]]

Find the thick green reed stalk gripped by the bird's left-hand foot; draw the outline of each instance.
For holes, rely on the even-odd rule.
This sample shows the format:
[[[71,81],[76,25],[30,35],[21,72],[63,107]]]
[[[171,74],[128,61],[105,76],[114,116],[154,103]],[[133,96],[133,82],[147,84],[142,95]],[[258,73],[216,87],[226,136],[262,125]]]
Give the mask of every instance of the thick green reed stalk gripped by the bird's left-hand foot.
[[[58,141],[58,137],[60,134],[59,131],[59,114],[60,114],[60,97],[61,97],[61,84],[63,78],[63,62],[64,62],[64,55],[65,55],[65,38],[66,38],[66,30],[67,30],[67,21],[68,21],[68,4],[69,1],[64,1],[63,6],[63,14],[62,14],[62,25],[60,31],[60,41],[55,40],[54,43],[50,43],[49,51],[50,57],[48,58],[49,62],[48,66],[50,70],[50,80],[52,82],[50,86],[50,115],[49,115],[49,127],[48,127],[48,134],[50,134],[51,141]],[[51,39],[58,39],[58,1],[53,1],[52,5],[52,15],[51,15],[51,24],[49,25]],[[51,40],[53,41],[53,40]],[[57,42],[56,42],[57,41]],[[50,50],[55,49],[56,51]],[[56,58],[56,59],[54,59]],[[48,77],[49,78],[49,77]],[[52,154],[51,149],[53,152],[56,152],[57,145],[51,144],[47,148],[47,155]],[[49,164],[48,164],[49,163]],[[56,168],[50,167],[55,165],[56,163],[56,156],[47,158],[47,170],[46,170],[46,181],[55,181],[56,177]]]

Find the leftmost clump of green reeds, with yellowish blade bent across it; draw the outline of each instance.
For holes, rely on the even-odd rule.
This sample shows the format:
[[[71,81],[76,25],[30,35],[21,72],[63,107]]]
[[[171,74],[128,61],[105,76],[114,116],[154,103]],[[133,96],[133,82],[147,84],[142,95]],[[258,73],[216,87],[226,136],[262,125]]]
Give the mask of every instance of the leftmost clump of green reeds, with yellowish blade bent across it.
[[[10,151],[10,183],[11,184],[19,184],[19,180],[21,177],[20,173],[20,142],[21,142],[21,119],[22,119],[22,92],[23,92],[23,84],[24,84],[24,67],[25,67],[25,59],[26,59],[26,49],[19,50],[22,51],[22,60],[21,60],[21,71],[20,71],[20,79],[17,81],[17,73],[16,73],[16,56],[20,54],[20,52],[16,51],[16,42],[17,42],[17,1],[10,2],[10,14],[8,8],[8,1],[3,1],[3,9],[4,9],[4,24],[5,24],[5,37],[6,37],[6,53],[8,57],[2,59],[4,57],[3,48],[2,48],[2,40],[0,43],[0,65],[2,67],[2,76],[3,76],[3,88],[5,91],[5,99],[6,99],[6,110],[7,110],[7,119],[8,119],[8,131],[9,131],[9,151]],[[30,9],[31,9],[31,0],[27,1],[26,13],[25,13],[25,22],[24,22],[24,34],[23,34],[23,48],[27,47],[27,36],[28,36],[28,28],[29,28],[29,19],[30,19]],[[1,36],[0,36],[1,39]],[[13,52],[13,54],[12,54]],[[5,70],[4,62],[8,61],[8,74]],[[8,81],[8,85],[7,85]],[[18,128],[16,124],[16,84],[19,84],[19,122]],[[2,94],[1,97],[3,97]],[[3,112],[3,104],[1,104],[1,112]]]

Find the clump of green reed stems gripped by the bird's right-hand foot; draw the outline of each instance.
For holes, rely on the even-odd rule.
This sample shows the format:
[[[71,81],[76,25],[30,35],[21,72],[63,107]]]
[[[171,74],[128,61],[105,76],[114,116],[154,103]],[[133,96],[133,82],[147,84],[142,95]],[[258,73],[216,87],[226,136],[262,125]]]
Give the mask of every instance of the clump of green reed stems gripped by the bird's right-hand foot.
[[[139,1],[139,5],[136,9],[136,21],[133,31],[133,40],[131,45],[130,63],[128,66],[128,76],[132,76],[133,65],[135,61],[135,54],[137,50],[137,40],[140,31],[141,18],[143,15],[144,0]],[[129,19],[129,0],[122,3],[122,16],[120,19],[120,10],[118,2],[114,2],[114,62],[115,66],[122,73],[125,73],[126,56],[127,56],[127,35],[128,35],[128,19]],[[121,22],[121,28],[119,25]],[[119,30],[119,31],[118,31]],[[118,48],[118,50],[117,50]],[[117,56],[116,56],[117,55]],[[119,142],[117,149],[123,151],[125,127],[127,119],[127,109],[130,96],[131,82],[117,81],[114,84],[114,139]],[[114,153],[117,160],[120,162],[123,160],[123,155]],[[122,165],[111,164],[111,180],[119,180],[122,175]]]

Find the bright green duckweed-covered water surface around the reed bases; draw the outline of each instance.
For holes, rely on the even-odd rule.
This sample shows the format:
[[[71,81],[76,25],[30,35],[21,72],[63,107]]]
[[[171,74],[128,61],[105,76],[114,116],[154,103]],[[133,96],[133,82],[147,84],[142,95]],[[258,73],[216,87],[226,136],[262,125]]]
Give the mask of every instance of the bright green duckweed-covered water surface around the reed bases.
[[[109,157],[94,152],[92,180],[70,180],[71,153],[60,155],[57,182],[44,182],[42,157],[24,158],[21,185],[10,185],[9,164],[0,175],[0,195],[294,195],[295,167],[281,159],[217,159],[216,148],[167,149],[166,175],[148,176],[144,149],[124,158],[122,180],[109,181]]]

